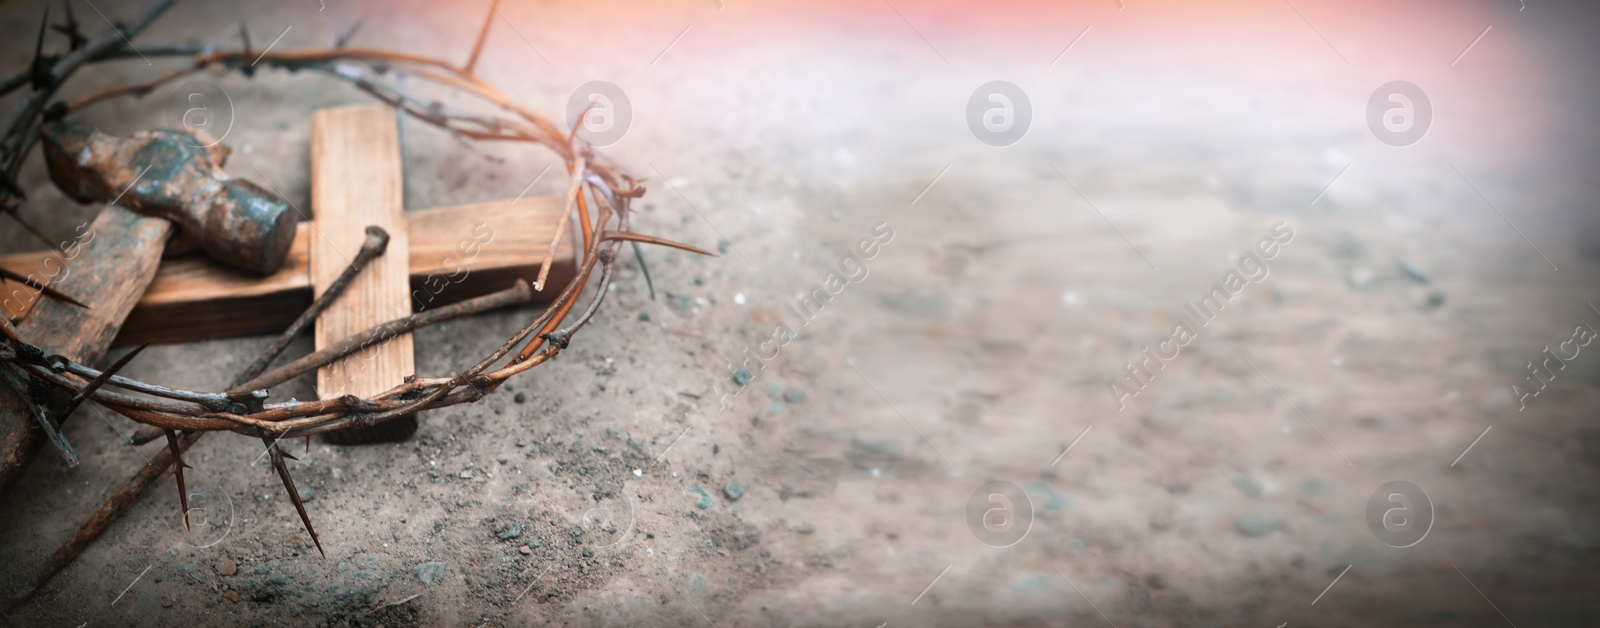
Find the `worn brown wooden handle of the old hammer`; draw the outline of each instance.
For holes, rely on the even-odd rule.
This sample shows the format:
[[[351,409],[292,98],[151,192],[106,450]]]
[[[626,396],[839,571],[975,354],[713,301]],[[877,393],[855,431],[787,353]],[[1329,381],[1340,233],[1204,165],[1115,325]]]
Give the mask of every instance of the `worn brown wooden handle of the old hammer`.
[[[50,285],[88,303],[90,309],[40,296],[27,319],[16,325],[22,341],[82,364],[106,357],[122,322],[155,277],[171,229],[162,218],[107,205],[56,258],[59,264],[46,264],[46,272],[53,272]],[[43,442],[43,428],[29,415],[22,397],[0,384],[0,490],[22,476]]]

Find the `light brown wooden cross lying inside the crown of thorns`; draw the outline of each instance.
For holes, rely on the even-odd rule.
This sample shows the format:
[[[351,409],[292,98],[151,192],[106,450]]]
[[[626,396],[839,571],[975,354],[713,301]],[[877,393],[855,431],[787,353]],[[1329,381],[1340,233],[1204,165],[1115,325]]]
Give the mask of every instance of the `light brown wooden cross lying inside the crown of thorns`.
[[[518,277],[531,280],[560,224],[560,197],[402,211],[398,125],[389,106],[314,112],[310,147],[314,218],[299,224],[283,269],[259,277],[200,256],[168,260],[115,344],[278,333],[350,264],[366,226],[381,226],[389,232],[387,252],[317,319],[315,344],[323,349],[413,311],[498,292]],[[0,266],[24,276],[61,276],[59,261],[50,263],[53,256],[51,252],[11,255],[0,258]],[[43,276],[46,269],[53,274]],[[574,271],[571,244],[563,239],[549,282],[534,300],[554,300]],[[0,296],[11,320],[26,320],[37,303],[37,293],[26,285],[5,284]],[[323,399],[342,394],[365,399],[414,372],[406,333],[318,368],[317,391]],[[414,426],[414,418],[406,418],[360,428],[362,434],[328,437],[394,439],[410,436]]]

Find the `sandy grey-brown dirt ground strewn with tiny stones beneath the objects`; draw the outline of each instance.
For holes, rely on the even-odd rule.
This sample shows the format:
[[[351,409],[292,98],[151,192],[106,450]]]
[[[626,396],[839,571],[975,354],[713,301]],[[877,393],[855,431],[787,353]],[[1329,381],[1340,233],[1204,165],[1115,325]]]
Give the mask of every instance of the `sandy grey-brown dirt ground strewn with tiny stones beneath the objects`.
[[[293,471],[326,558],[261,445],[219,434],[187,455],[194,530],[163,481],[0,618],[1600,625],[1600,346],[1512,392],[1600,328],[1600,14],[1518,5],[507,0],[480,74],[552,115],[582,83],[621,87],[634,115],[603,151],[646,179],[637,231],[723,255],[646,250],[654,300],[627,255],[566,352],[408,442],[312,442]],[[136,10],[74,6],[96,26]],[[464,59],[486,8],[186,0],[134,43],[235,45],[243,21],[258,50],[325,46],[365,19],[355,46]],[[29,62],[42,11],[0,6],[5,67]],[[171,64],[152,61],[67,95]],[[310,111],[366,96],[208,80],[235,111],[229,170],[309,205]],[[990,80],[1030,101],[1014,144],[968,125]],[[1390,80],[1427,90],[1416,144],[1366,120]],[[165,125],[168,96],[83,119]],[[414,120],[405,143],[413,210],[514,197],[557,162],[493,162]],[[37,162],[22,183],[46,232],[94,211]],[[1266,272],[1200,325],[1187,306],[1274,234]],[[864,237],[877,255],[848,258]],[[0,247],[34,244],[6,227]],[[802,325],[794,304],[832,272],[851,280]],[[422,330],[418,372],[534,314]],[[797,336],[736,373],[779,324]],[[1118,401],[1107,381],[1133,386],[1125,364],[1178,324],[1192,338]],[[264,344],[155,346],[126,373],[221,389]],[[80,409],[82,465],[45,452],[3,497],[0,590],[154,455],[122,442],[134,428]],[[1374,522],[1390,492],[1419,540]]]

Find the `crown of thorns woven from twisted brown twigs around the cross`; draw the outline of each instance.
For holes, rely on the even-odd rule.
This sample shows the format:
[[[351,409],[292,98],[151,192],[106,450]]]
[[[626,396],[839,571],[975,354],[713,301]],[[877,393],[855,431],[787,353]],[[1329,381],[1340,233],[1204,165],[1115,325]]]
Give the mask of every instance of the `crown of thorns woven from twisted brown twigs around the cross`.
[[[555,240],[541,263],[538,282],[542,282],[554,261],[560,239],[570,232],[570,219],[576,219],[581,232],[581,261],[571,284],[531,322],[507,338],[498,349],[485,356],[474,365],[446,378],[408,376],[405,383],[374,394],[368,399],[342,396],[323,401],[288,401],[269,404],[269,388],[282,384],[294,376],[328,365],[350,356],[373,343],[384,341],[400,333],[427,327],[453,317],[486,311],[491,308],[526,303],[531,290],[526,280],[517,280],[510,288],[461,301],[448,308],[400,317],[382,325],[376,325],[362,333],[352,335],[326,349],[301,357],[290,364],[267,370],[272,360],[283,351],[286,340],[293,338],[304,324],[315,319],[318,304],[314,304],[302,320],[285,332],[280,343],[274,343],[245,373],[240,373],[234,384],[222,392],[181,391],[165,386],[149,384],[115,375],[128,364],[139,349],[128,352],[106,370],[91,368],[86,364],[75,364],[70,359],[51,354],[48,348],[32,346],[18,333],[16,327],[0,314],[0,375],[5,375],[13,386],[18,386],[29,412],[45,428],[51,442],[75,460],[70,447],[59,433],[59,421],[72,413],[83,401],[93,401],[112,412],[128,417],[147,428],[142,431],[158,431],[166,437],[168,449],[162,452],[144,473],[160,474],[168,465],[178,479],[179,503],[184,508],[187,525],[187,492],[184,489],[182,452],[200,436],[210,431],[232,431],[250,437],[259,437],[272,455],[272,466],[299,513],[301,522],[317,543],[322,553],[322,541],[310,524],[306,506],[294,489],[290,468],[283,461],[291,458],[278,447],[278,441],[290,437],[309,437],[312,434],[330,433],[346,428],[371,426],[390,418],[413,415],[421,410],[434,410],[456,404],[470,404],[483,399],[517,373],[530,370],[554,359],[571,341],[598,311],[608,292],[616,269],[616,252],[622,242],[638,247],[640,242],[667,245],[694,253],[712,255],[704,250],[642,235],[627,231],[629,205],[645,194],[645,189],[627,175],[616,162],[595,152],[589,144],[578,139],[576,125],[562,128],[544,115],[514,103],[493,85],[480,80],[474,72],[478,53],[483,48],[488,22],[474,45],[472,56],[464,66],[453,66],[442,59],[432,59],[400,51],[347,48],[344,43],[355,29],[339,37],[333,48],[294,50],[294,51],[253,51],[250,34],[240,26],[243,46],[238,50],[218,50],[202,45],[166,45],[144,46],[133,50],[131,38],[158,18],[173,0],[158,0],[126,24],[114,24],[112,29],[90,38],[78,32],[75,19],[67,5],[67,24],[56,26],[56,30],[67,34],[72,40],[66,54],[43,54],[45,24],[40,26],[40,38],[35,46],[35,59],[27,72],[18,74],[0,83],[0,95],[19,87],[30,85],[3,120],[3,139],[0,139],[0,211],[10,215],[30,232],[46,240],[37,229],[29,226],[18,210],[24,199],[22,187],[16,183],[18,170],[32,147],[40,141],[40,127],[61,120],[91,104],[120,98],[142,96],[162,85],[171,83],[190,74],[203,70],[238,70],[246,77],[254,75],[256,66],[286,69],[290,72],[310,70],[349,82],[368,95],[405,111],[422,122],[438,127],[466,141],[512,141],[533,143],[549,147],[566,163],[571,184],[560,224],[555,229]],[[493,18],[493,8],[490,18]],[[357,24],[358,27],[360,24]],[[270,48],[270,46],[269,46]],[[70,103],[45,103],[78,67],[88,62],[144,58],[187,58],[192,62],[186,67],[157,77],[144,83],[123,85],[106,91],[93,93]],[[491,106],[498,114],[469,114],[453,111],[437,101],[426,101],[406,91],[398,80],[386,80],[403,70],[427,83],[475,96]],[[579,115],[578,120],[584,117]],[[470,144],[469,144],[470,147]],[[371,247],[368,247],[371,248]],[[381,250],[381,247],[379,247]],[[370,256],[370,255],[368,255]],[[595,269],[598,266],[598,274]],[[584,288],[598,277],[598,288],[581,309],[579,300]],[[5,279],[29,284],[42,296],[64,300],[78,304],[69,295],[50,285],[5,272]],[[648,280],[648,274],[646,274]],[[320,300],[318,300],[320,301]],[[80,304],[82,306],[82,304]],[[574,314],[576,312],[576,314]],[[498,367],[496,367],[498,365]],[[53,389],[64,389],[70,394],[70,404],[64,409],[48,405]],[[82,533],[82,532],[80,532]],[[326,553],[323,553],[326,556]],[[70,558],[69,558],[70,559]],[[59,566],[58,566],[59,567]],[[50,569],[50,566],[46,566]],[[48,575],[46,575],[48,578]],[[35,586],[38,577],[35,577]]]

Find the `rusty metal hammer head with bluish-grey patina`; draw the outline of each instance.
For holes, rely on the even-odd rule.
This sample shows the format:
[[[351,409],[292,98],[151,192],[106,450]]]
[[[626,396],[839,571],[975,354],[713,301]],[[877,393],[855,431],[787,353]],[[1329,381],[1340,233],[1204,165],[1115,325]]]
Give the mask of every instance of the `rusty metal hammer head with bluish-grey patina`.
[[[261,274],[294,244],[290,203],[222,171],[226,151],[190,133],[139,131],[122,139],[80,122],[43,130],[51,181],[77,202],[115,202],[173,221],[211,260]]]

